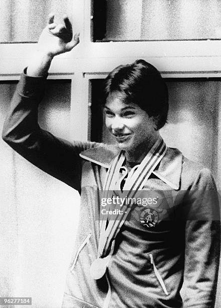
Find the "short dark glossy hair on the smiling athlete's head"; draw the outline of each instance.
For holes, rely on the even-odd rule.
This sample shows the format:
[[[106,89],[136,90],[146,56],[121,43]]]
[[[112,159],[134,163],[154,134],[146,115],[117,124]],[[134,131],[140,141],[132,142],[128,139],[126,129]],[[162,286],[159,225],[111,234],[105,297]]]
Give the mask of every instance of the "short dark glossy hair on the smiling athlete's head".
[[[152,64],[140,59],[114,68],[104,82],[105,99],[115,91],[125,94],[125,102],[135,103],[148,116],[156,117],[156,129],[164,126],[168,114],[168,89]]]

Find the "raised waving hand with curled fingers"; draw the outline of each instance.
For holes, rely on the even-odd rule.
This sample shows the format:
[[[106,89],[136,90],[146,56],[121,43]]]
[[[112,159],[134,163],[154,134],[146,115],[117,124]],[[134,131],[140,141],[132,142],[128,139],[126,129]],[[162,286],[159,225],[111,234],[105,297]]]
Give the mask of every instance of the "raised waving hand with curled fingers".
[[[49,16],[49,23],[42,31],[38,50],[54,57],[72,50],[79,43],[79,33],[73,35],[72,24],[68,16],[63,17],[63,24],[54,23],[54,14]]]

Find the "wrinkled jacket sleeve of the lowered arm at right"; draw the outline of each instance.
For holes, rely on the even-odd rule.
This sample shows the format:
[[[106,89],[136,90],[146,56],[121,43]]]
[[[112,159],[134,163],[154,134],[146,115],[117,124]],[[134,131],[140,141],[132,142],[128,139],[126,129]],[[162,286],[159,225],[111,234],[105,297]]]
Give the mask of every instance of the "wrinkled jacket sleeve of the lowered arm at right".
[[[220,255],[220,214],[218,194],[208,169],[199,172],[184,199],[183,308],[212,308]]]

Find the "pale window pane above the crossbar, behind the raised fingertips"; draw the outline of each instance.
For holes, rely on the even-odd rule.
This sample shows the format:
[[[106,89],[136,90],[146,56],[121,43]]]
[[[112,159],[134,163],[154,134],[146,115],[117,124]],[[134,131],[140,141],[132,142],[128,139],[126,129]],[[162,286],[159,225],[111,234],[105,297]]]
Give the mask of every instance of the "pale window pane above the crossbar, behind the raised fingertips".
[[[37,42],[50,13],[72,16],[70,0],[2,0],[1,42]]]

